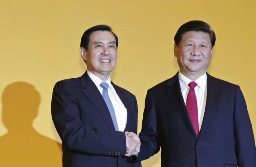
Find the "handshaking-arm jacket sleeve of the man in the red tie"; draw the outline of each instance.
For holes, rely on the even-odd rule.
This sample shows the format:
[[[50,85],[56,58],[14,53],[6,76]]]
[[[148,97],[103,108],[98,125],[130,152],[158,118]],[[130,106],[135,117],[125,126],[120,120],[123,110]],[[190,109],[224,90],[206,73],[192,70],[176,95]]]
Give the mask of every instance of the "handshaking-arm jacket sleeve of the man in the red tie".
[[[148,159],[150,156],[156,154],[160,150],[159,140],[157,137],[157,117],[154,104],[154,98],[148,90],[145,99],[145,109],[143,113],[142,129],[139,134],[140,137],[140,152],[135,161]]]

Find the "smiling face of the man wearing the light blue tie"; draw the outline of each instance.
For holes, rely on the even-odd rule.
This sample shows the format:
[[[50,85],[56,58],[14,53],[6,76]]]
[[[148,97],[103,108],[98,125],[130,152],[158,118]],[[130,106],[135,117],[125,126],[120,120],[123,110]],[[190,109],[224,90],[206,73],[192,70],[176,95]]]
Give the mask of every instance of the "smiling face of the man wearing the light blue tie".
[[[116,39],[110,31],[94,31],[90,35],[88,50],[80,48],[87,69],[106,81],[116,65]]]

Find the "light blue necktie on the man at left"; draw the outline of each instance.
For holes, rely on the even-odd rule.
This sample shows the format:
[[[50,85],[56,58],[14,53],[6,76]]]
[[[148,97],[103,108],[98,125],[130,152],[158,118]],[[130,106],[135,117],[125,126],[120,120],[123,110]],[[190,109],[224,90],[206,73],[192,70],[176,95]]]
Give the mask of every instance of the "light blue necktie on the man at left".
[[[107,108],[108,108],[109,113],[111,115],[111,118],[112,118],[112,121],[114,123],[115,129],[116,129],[116,131],[119,131],[118,125],[117,125],[117,122],[116,122],[115,110],[114,110],[114,107],[113,107],[113,105],[111,103],[111,100],[108,96],[108,91],[107,91],[108,84],[107,84],[107,82],[102,82],[100,84],[100,86],[103,88],[102,96],[103,96],[103,99],[105,100],[105,102],[107,104]]]

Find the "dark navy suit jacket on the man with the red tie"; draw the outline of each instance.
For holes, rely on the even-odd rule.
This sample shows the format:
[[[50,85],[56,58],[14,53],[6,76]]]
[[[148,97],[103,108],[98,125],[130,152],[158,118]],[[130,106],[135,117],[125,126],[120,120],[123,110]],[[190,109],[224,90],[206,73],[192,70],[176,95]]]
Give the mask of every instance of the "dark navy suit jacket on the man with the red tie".
[[[256,167],[252,125],[239,86],[207,74],[207,100],[199,137],[181,93],[178,73],[148,90],[141,147],[145,160],[161,147],[162,167]]]

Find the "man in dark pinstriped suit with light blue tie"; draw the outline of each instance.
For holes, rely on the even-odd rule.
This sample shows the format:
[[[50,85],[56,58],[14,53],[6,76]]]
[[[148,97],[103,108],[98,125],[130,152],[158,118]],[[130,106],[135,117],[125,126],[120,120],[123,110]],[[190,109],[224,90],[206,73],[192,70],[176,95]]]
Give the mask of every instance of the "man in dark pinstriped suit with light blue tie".
[[[140,143],[126,132],[137,133],[136,98],[110,79],[117,47],[109,26],[86,30],[79,53],[88,70],[54,86],[51,112],[62,140],[64,167],[141,166],[129,160],[140,151]]]

